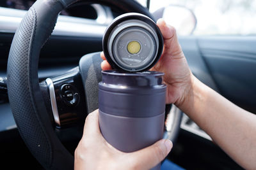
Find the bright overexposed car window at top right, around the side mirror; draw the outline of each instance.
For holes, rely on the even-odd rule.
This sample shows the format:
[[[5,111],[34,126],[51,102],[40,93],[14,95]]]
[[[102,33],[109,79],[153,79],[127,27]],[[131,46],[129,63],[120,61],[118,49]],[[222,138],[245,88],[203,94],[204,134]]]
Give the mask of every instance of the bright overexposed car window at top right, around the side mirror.
[[[151,0],[150,12],[170,4],[193,11],[194,35],[256,35],[255,0]]]

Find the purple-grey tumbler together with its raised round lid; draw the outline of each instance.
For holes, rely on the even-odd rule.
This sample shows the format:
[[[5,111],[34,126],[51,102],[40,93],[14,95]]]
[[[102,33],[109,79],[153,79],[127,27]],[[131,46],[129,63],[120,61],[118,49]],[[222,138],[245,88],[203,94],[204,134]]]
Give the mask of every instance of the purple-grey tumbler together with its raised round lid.
[[[102,45],[113,70],[102,71],[99,83],[100,131],[122,152],[150,146],[164,131],[164,74],[148,71],[161,57],[163,36],[147,16],[127,13],[109,25]]]

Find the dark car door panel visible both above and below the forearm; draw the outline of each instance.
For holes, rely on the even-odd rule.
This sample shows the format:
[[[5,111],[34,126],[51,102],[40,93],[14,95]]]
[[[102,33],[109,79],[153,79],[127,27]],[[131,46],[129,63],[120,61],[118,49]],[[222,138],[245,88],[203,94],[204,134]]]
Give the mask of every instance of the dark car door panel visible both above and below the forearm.
[[[184,36],[179,42],[200,81],[256,113],[256,36]],[[182,118],[180,127],[170,156],[173,162],[188,169],[243,169],[188,117]]]

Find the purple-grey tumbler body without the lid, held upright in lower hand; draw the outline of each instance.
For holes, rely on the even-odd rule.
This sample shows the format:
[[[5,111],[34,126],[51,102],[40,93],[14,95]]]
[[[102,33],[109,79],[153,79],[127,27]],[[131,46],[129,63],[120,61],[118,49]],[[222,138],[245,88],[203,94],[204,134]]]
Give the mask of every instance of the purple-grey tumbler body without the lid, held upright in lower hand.
[[[106,141],[122,152],[134,152],[163,138],[165,97],[163,73],[102,71],[99,125]]]

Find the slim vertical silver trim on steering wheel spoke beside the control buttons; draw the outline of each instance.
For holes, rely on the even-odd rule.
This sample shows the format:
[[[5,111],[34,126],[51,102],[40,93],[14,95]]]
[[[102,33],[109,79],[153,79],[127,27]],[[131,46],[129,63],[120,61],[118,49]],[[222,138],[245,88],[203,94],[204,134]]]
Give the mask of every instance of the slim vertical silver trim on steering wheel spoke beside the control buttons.
[[[53,114],[53,117],[54,117],[54,122],[58,126],[60,126],[60,117],[59,117],[59,113],[58,113],[58,107],[57,107],[57,103],[56,103],[56,97],[55,97],[53,82],[52,82],[51,78],[47,78],[45,80],[45,82],[46,82],[47,88],[49,90],[49,96],[50,96],[50,100],[51,100],[52,114]]]

